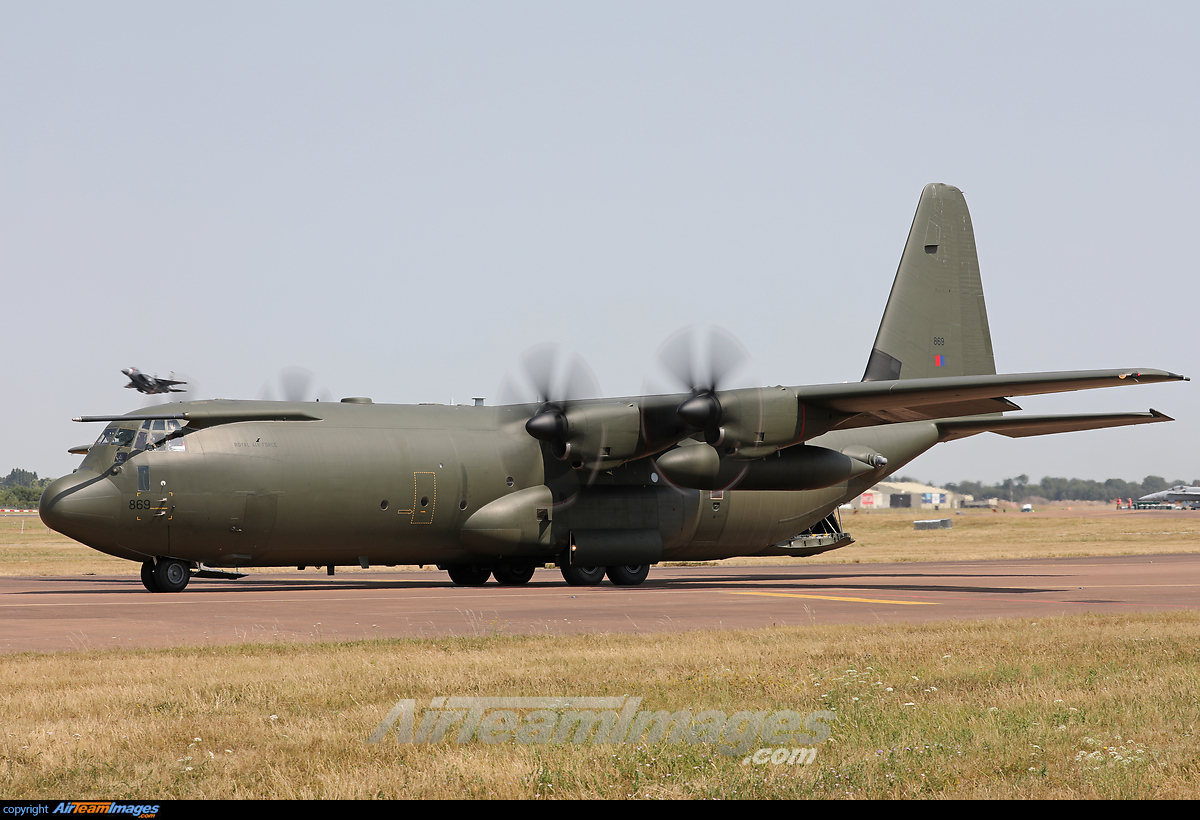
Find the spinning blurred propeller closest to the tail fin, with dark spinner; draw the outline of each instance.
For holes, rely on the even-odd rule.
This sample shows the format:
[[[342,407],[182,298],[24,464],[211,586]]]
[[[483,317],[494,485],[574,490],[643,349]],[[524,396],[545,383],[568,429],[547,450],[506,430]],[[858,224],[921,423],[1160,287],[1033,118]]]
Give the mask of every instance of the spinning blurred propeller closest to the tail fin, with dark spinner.
[[[702,342],[704,349],[701,349]],[[712,328],[701,339],[694,327],[684,328],[659,348],[659,364],[691,393],[676,409],[679,420],[704,431],[704,441],[716,447],[721,443],[721,401],[716,393],[750,355],[727,330]]]

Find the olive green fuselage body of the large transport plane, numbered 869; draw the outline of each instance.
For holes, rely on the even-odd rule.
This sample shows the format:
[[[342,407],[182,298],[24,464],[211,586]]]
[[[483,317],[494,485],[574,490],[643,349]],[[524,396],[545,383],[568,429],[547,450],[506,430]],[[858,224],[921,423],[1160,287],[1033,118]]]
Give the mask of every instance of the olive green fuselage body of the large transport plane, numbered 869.
[[[930,423],[832,432],[809,444],[862,443],[888,468],[811,491],[671,486],[653,459],[572,469],[532,439],[524,407],[320,403],[320,420],[244,421],[157,448],[97,443],[77,473],[66,534],[131,561],[170,556],[212,567],[451,564],[496,558],[463,525],[527,487],[553,493],[548,537],[522,555],[552,562],[572,531],[658,531],[662,559],[758,555],[827,516],[937,441]],[[187,408],[170,405],[155,409]],[[138,429],[140,421],[115,423]],[[103,436],[102,436],[103,439]]]

